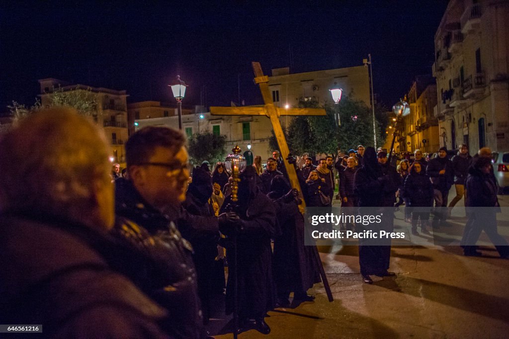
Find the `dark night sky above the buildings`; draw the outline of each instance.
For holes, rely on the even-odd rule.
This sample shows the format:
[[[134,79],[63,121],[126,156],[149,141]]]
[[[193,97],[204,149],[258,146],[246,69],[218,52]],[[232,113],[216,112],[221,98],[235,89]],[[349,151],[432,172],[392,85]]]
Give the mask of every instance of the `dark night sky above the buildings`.
[[[434,35],[447,1],[144,2],[0,5],[0,113],[33,104],[38,79],[126,90],[128,102],[261,104],[252,61],[267,75],[362,65],[372,53],[374,92],[391,106],[431,73]],[[266,4],[266,5],[263,5]],[[269,5],[270,4],[270,5]]]

